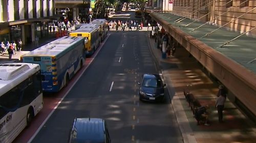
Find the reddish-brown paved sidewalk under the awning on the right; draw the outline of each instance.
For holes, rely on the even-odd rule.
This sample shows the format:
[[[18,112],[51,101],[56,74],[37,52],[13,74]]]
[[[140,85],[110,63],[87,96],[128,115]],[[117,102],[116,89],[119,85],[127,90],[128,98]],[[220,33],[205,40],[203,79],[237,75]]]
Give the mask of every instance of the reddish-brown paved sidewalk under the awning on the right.
[[[158,61],[157,64],[162,71],[164,82],[167,84],[185,143],[256,142],[255,124],[251,123],[230,101],[232,99],[227,99],[225,103],[224,123],[218,122],[218,113],[215,108],[218,85],[205,75],[197,61],[189,57],[185,49],[177,48],[175,57],[162,59],[162,53],[156,48],[154,39],[149,39],[149,42],[154,58]],[[183,90],[188,88],[187,85],[191,85],[189,91],[194,94],[201,105],[209,105],[210,126],[197,125],[193,112],[183,95]]]

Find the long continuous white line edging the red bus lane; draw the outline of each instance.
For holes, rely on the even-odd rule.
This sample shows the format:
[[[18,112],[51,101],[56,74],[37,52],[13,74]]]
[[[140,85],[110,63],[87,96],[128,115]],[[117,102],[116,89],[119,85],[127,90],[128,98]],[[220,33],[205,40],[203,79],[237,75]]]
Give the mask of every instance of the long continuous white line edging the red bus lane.
[[[98,47],[98,50],[94,56],[94,58],[97,56],[98,52],[100,51],[100,49],[102,48],[102,46],[105,44],[106,40],[108,40],[110,37],[110,34],[108,35],[108,37],[105,38],[105,40],[103,41],[102,44],[100,44],[100,47]],[[56,108],[59,106],[59,104],[62,102],[62,100],[69,94],[69,92],[71,91],[71,89],[74,87],[74,85],[76,84],[76,82],[80,79],[80,77],[82,76],[82,74],[86,71],[86,69],[91,65],[91,63],[94,61],[93,60],[90,61],[90,63],[87,65],[87,67],[82,71],[82,73],[75,79],[75,81],[73,82],[73,84],[70,86],[70,89],[65,93],[65,95],[60,99],[60,101],[57,103],[57,105],[54,107],[54,109],[49,113],[49,115],[47,116],[47,118],[44,120],[44,122],[41,123],[41,125],[39,126],[39,128],[34,132],[34,134],[31,136],[31,138],[29,139],[28,143],[30,143],[35,136],[38,134],[38,132],[41,130],[41,128],[46,124],[46,122],[48,121],[48,119],[52,116],[53,112],[56,110]]]

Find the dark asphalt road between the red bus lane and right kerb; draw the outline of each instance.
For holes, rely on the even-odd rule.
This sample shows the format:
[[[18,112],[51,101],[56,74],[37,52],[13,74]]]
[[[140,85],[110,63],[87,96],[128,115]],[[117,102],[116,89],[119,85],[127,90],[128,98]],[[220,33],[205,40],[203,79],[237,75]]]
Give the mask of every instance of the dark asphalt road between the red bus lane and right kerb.
[[[67,142],[75,117],[106,119],[112,143],[182,142],[167,94],[164,103],[139,101],[140,76],[158,73],[148,46],[145,32],[111,32],[32,142]]]

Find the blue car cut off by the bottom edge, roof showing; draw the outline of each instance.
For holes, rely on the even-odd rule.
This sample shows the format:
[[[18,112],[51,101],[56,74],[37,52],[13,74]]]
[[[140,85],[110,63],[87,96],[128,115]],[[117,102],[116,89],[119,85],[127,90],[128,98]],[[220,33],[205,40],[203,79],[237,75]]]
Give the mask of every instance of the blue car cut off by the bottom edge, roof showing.
[[[102,118],[75,118],[69,143],[111,143],[106,122]]]

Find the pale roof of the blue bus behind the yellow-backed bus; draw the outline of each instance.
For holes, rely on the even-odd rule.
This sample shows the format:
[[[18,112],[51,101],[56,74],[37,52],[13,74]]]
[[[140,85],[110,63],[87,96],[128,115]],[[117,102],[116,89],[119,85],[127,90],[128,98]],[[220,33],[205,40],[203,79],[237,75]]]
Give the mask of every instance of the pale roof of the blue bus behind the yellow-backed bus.
[[[70,46],[76,44],[79,41],[83,41],[82,37],[62,37],[54,40],[46,45],[43,45],[37,49],[32,50],[29,53],[22,55],[24,56],[57,56]],[[57,58],[57,57],[56,57]]]

